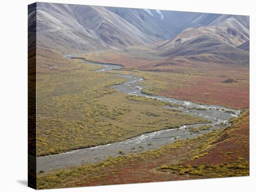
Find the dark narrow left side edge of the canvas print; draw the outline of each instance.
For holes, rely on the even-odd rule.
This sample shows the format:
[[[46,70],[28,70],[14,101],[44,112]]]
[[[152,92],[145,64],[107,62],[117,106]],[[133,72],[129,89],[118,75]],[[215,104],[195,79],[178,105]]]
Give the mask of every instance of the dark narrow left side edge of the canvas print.
[[[28,186],[36,189],[36,3],[28,5]]]

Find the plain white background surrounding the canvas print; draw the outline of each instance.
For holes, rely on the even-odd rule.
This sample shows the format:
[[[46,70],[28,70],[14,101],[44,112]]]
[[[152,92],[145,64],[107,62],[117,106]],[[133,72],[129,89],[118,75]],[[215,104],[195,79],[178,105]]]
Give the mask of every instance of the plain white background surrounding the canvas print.
[[[253,66],[253,0],[48,0],[83,5],[152,8],[204,13],[250,15],[250,177],[201,179],[118,186],[48,190],[63,192],[189,191],[249,192],[256,190],[253,140],[255,120],[255,67]],[[4,0],[0,6],[0,191],[33,191],[27,187],[27,5],[33,0]],[[253,43],[252,43],[253,42]],[[256,75],[256,74],[254,74]],[[255,146],[254,146],[255,147]]]

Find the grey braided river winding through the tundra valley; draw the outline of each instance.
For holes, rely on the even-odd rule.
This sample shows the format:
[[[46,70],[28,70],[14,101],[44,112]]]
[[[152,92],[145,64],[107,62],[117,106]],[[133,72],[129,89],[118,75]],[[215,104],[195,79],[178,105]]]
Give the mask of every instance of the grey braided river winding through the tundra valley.
[[[80,54],[82,53],[78,53],[75,55],[80,55]],[[74,54],[65,55],[66,58],[72,58],[72,56],[74,56]],[[81,62],[84,62],[84,61],[81,61]],[[96,72],[107,72],[109,70],[122,68],[122,65],[116,65],[116,64],[97,64],[97,63],[92,63],[92,64],[103,66],[101,70],[97,70]],[[178,104],[180,107],[176,108],[176,107],[169,107],[168,105],[166,105],[165,108],[181,109],[182,114],[199,116],[203,119],[208,119],[212,123],[184,125],[180,128],[164,129],[164,130],[155,131],[152,133],[141,134],[139,136],[130,138],[126,141],[115,142],[115,143],[110,143],[107,145],[101,145],[96,147],[78,149],[78,150],[70,151],[63,154],[37,157],[37,172],[39,172],[40,170],[50,171],[56,168],[76,166],[83,163],[91,163],[91,162],[107,160],[109,156],[112,156],[112,157],[119,156],[120,155],[119,150],[122,150],[126,154],[129,154],[129,153],[140,153],[141,151],[146,151],[149,149],[156,149],[161,147],[162,145],[170,144],[174,142],[176,139],[184,140],[186,138],[194,138],[198,136],[198,134],[203,134],[213,129],[219,128],[220,125],[222,125],[223,123],[226,123],[227,125],[229,125],[229,119],[232,117],[236,117],[240,114],[240,110],[229,109],[222,106],[202,105],[202,104],[197,104],[193,102],[177,100],[174,98],[168,98],[164,96],[149,96],[141,92],[142,86],[140,82],[143,81],[143,78],[134,77],[130,75],[121,75],[118,73],[115,73],[113,75],[118,75],[119,77],[127,79],[126,83],[113,86],[114,89],[122,93],[125,93],[128,95],[134,95],[134,96],[145,96],[147,98],[152,98],[152,99],[156,99],[164,102],[175,103],[175,104]],[[191,109],[188,109],[188,108],[191,108]],[[206,110],[199,110],[202,108],[205,108]],[[199,133],[191,134],[189,132],[189,127],[193,126],[197,128],[203,125],[212,125],[212,127],[209,130],[199,131]],[[135,149],[133,149],[134,147]]]

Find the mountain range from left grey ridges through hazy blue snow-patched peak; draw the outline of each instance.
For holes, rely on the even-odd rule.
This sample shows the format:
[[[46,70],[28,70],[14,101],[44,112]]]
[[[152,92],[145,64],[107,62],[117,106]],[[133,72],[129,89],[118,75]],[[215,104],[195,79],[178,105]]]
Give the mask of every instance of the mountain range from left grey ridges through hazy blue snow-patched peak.
[[[62,53],[118,49],[173,38],[219,14],[42,3],[36,13],[37,45]],[[29,22],[32,25],[33,22]],[[31,27],[30,27],[31,28]]]

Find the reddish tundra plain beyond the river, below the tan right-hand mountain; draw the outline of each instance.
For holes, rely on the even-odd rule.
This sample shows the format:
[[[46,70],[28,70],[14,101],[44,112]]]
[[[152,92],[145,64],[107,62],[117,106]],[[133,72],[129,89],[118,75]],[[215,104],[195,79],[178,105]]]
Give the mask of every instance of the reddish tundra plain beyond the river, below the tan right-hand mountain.
[[[124,65],[124,74],[144,77],[142,91],[147,94],[235,109],[249,108],[248,66],[186,57],[159,57],[157,52],[142,48],[135,46],[124,51],[89,53],[79,57]],[[230,83],[225,83],[229,80]]]

